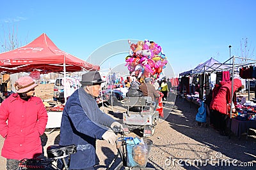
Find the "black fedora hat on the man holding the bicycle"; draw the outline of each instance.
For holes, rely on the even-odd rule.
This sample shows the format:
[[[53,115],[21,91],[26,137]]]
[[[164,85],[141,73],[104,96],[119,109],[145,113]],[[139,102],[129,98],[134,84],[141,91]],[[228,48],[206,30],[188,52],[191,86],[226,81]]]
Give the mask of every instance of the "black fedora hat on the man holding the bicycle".
[[[103,83],[99,71],[88,71],[82,75],[81,85],[93,85]]]

